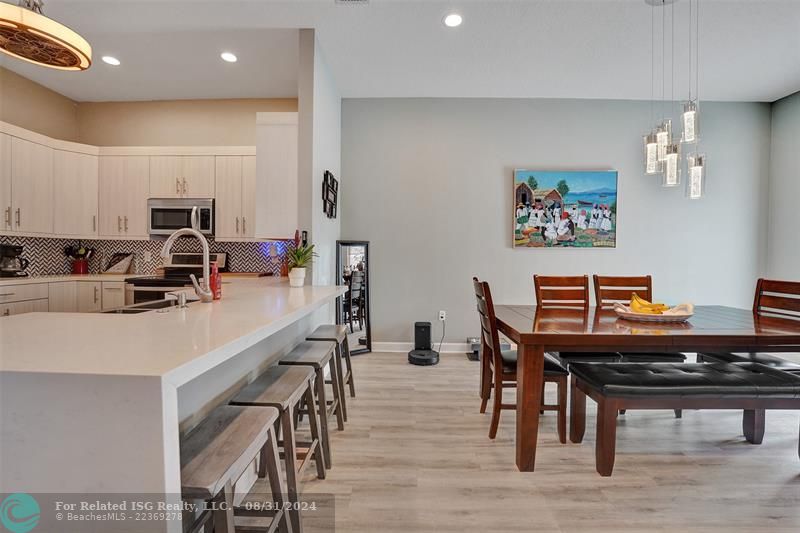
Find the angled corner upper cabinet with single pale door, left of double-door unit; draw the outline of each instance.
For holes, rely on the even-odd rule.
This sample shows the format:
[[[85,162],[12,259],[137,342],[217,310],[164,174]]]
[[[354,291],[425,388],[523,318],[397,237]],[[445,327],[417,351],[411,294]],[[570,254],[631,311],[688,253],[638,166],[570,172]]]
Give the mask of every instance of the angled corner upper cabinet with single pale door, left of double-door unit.
[[[97,235],[97,156],[53,152],[53,230],[56,235]]]

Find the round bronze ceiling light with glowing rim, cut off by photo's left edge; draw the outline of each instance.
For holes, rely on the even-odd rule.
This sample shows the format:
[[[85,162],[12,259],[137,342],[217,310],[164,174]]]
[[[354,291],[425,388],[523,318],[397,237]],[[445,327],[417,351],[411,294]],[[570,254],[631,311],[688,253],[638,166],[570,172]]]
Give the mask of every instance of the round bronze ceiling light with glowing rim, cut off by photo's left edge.
[[[59,70],[86,70],[92,47],[63,24],[42,14],[41,0],[0,2],[0,51],[36,65]]]

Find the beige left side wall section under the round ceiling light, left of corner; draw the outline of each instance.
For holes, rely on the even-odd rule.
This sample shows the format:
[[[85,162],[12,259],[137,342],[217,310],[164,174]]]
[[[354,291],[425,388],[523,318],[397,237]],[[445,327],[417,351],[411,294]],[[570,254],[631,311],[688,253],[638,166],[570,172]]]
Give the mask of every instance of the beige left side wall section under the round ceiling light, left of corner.
[[[56,139],[78,141],[78,104],[3,67],[0,120]]]

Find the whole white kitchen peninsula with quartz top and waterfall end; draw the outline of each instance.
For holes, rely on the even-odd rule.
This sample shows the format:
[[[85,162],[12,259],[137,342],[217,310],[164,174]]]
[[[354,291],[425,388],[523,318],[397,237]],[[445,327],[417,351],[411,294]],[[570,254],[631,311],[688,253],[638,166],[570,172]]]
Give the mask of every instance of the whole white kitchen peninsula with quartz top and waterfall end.
[[[185,309],[5,318],[0,492],[177,497],[181,433],[330,321],[344,291],[226,278],[222,300]]]

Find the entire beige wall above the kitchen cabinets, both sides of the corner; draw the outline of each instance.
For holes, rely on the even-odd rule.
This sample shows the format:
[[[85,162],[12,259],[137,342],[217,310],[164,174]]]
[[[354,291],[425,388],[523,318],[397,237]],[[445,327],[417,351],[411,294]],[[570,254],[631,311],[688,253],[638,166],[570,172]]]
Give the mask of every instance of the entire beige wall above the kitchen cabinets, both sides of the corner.
[[[255,146],[256,113],[296,98],[76,103],[0,67],[0,120],[96,146]]]

